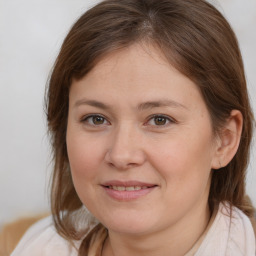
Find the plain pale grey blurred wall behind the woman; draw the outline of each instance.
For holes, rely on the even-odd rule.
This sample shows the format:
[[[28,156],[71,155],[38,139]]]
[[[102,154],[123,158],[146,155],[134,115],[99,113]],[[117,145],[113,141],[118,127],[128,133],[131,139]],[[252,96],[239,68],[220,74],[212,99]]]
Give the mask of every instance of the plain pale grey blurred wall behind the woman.
[[[0,0],[0,227],[49,211],[48,75],[74,21],[96,0]],[[235,30],[256,112],[256,1],[211,0]],[[256,140],[247,192],[256,206]]]

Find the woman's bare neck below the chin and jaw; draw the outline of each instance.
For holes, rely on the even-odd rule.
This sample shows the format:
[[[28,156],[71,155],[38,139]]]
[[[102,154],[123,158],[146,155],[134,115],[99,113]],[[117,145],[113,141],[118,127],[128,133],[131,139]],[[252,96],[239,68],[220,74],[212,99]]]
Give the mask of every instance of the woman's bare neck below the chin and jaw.
[[[109,230],[102,256],[181,256],[198,241],[206,229],[208,205],[190,212],[179,222],[150,234],[122,234]]]

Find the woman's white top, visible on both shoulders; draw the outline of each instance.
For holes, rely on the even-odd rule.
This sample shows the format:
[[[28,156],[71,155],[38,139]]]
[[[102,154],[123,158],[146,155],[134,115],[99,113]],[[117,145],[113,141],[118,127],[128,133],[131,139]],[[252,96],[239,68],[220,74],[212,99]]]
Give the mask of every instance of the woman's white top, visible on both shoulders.
[[[249,218],[220,204],[217,215],[194,256],[255,256],[255,235]],[[78,248],[81,241],[75,242]],[[77,249],[57,234],[51,217],[34,224],[11,256],[77,256]]]

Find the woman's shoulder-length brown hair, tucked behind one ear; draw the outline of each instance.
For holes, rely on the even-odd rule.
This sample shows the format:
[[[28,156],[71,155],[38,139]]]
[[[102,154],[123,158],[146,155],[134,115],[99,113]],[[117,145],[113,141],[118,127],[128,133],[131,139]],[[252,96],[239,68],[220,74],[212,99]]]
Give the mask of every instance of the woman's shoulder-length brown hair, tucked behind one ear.
[[[231,110],[241,111],[244,122],[238,151],[226,167],[212,172],[209,205],[228,201],[249,217],[253,214],[245,197],[253,114],[238,42],[226,19],[204,0],[106,0],[73,25],[49,81],[47,118],[55,163],[51,205],[57,230],[67,239],[83,235],[71,219],[82,206],[66,148],[71,81],[86,75],[108,53],[142,41],[158,47],[198,85],[216,133]],[[83,244],[80,253],[85,253]]]

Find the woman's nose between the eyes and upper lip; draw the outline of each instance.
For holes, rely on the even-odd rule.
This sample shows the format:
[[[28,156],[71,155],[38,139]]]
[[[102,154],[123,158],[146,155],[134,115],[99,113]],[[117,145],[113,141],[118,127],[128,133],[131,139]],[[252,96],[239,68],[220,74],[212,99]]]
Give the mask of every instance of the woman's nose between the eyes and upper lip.
[[[142,165],[146,160],[141,134],[132,127],[119,127],[109,138],[106,162],[118,170]]]

